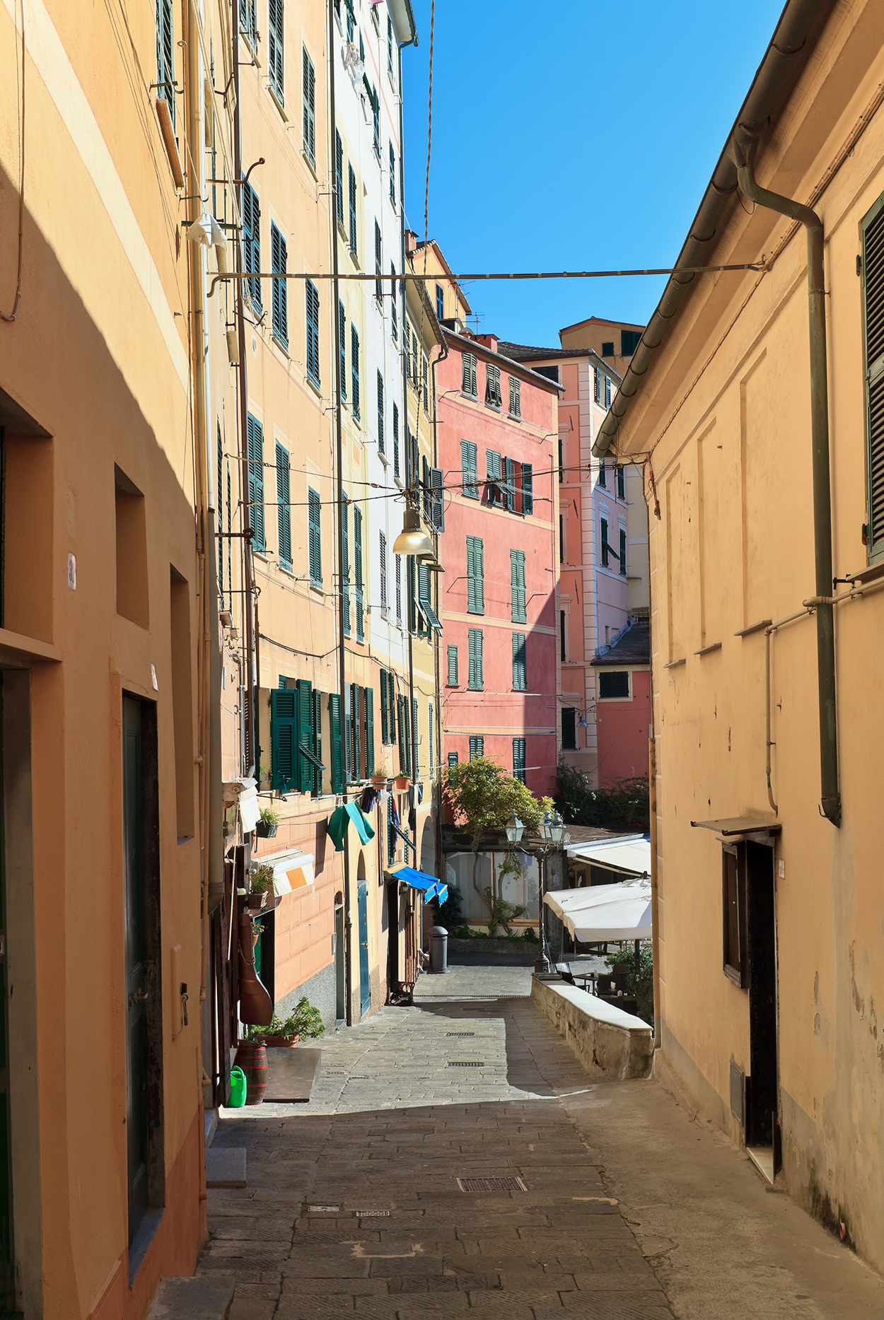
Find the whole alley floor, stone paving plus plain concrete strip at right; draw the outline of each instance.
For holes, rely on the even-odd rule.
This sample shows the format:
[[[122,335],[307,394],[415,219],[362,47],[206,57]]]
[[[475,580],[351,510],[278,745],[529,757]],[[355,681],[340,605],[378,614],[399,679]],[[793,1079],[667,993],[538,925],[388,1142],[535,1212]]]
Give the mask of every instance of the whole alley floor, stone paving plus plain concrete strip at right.
[[[588,1082],[529,991],[421,977],[321,1041],[309,1104],[224,1111],[248,1185],[208,1192],[197,1272],[232,1276],[231,1320],[880,1316],[877,1276],[744,1152],[658,1082]]]

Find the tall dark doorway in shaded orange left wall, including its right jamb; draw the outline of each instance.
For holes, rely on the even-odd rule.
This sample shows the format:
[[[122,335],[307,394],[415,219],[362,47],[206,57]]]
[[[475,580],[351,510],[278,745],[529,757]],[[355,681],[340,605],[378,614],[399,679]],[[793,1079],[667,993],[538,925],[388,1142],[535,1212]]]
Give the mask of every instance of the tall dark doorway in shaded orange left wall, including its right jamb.
[[[125,1131],[129,1247],[165,1199],[156,706],[123,697]],[[132,1254],[131,1254],[132,1263]]]

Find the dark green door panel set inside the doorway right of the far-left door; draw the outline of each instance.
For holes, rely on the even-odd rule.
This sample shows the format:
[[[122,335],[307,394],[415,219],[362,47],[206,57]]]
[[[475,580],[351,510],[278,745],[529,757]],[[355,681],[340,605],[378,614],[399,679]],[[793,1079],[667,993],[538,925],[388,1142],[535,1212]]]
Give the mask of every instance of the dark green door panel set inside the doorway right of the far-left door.
[[[123,855],[125,884],[125,1131],[129,1246],[148,1208],[148,1023],[144,900],[141,702],[123,698]]]

